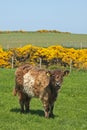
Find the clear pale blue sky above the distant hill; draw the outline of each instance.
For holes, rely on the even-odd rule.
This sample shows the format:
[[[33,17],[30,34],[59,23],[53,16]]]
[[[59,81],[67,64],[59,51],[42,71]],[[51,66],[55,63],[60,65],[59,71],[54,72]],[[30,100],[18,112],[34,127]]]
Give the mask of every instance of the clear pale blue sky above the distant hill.
[[[0,30],[87,34],[87,0],[2,0]]]

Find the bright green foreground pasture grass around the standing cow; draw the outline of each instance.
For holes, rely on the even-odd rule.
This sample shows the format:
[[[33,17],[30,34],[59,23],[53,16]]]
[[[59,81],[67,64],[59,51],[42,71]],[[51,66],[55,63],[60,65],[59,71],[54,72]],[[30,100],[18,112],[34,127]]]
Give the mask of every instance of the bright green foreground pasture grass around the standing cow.
[[[12,95],[14,72],[0,69],[0,130],[87,130],[87,72],[65,77],[54,119],[44,118],[39,99],[32,99],[30,113],[20,114],[18,98]]]

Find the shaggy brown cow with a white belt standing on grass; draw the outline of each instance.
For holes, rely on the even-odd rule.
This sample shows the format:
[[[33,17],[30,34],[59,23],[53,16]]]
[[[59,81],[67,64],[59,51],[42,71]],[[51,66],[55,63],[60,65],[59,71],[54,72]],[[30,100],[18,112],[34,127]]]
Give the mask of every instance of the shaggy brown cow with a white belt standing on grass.
[[[22,65],[15,72],[14,96],[18,94],[21,113],[29,112],[33,97],[42,101],[45,117],[53,117],[54,103],[61,88],[65,70],[45,70],[29,64]]]

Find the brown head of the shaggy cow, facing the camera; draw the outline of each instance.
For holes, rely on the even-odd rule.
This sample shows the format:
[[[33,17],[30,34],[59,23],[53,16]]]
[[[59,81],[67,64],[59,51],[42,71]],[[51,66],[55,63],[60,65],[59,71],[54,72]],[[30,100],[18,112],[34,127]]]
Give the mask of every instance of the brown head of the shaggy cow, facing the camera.
[[[68,70],[54,70],[50,71],[50,84],[58,91],[62,85],[63,77],[69,74]]]

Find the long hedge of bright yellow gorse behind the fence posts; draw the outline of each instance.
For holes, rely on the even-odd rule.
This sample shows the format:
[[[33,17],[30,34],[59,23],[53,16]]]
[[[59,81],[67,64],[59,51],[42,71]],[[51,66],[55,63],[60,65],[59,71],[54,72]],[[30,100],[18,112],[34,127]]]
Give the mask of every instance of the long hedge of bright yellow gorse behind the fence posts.
[[[11,68],[12,58],[14,67],[22,63],[37,64],[39,58],[44,64],[56,63],[87,69],[87,49],[64,48],[62,46],[49,46],[48,48],[26,45],[20,48],[3,50],[0,48],[0,67]]]

